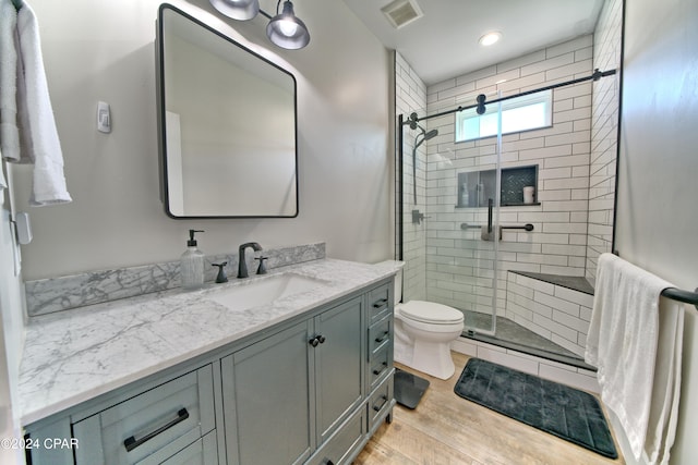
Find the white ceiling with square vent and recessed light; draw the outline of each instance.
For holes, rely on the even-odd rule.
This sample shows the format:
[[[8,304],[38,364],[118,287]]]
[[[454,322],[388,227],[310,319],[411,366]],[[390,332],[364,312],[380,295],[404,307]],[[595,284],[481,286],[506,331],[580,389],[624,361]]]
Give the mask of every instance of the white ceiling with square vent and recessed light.
[[[381,9],[392,0],[344,0],[428,85],[593,32],[604,0],[416,0],[424,16],[395,29]],[[478,39],[498,30],[502,39]]]

